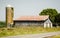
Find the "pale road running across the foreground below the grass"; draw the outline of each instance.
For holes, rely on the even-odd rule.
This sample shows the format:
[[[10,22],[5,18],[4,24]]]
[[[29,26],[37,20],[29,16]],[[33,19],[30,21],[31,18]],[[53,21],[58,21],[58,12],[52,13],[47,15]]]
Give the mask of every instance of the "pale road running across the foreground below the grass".
[[[27,34],[27,35],[17,35],[17,36],[8,36],[1,38],[50,38],[54,35],[60,34],[59,32],[49,32],[49,33],[41,33],[41,34]]]

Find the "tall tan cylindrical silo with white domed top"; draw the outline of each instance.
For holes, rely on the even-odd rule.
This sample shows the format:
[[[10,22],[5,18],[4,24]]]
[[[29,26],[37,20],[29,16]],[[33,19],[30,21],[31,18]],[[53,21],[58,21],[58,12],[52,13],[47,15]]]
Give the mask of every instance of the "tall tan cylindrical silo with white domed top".
[[[14,8],[11,5],[6,6],[6,26],[11,27],[13,25]]]

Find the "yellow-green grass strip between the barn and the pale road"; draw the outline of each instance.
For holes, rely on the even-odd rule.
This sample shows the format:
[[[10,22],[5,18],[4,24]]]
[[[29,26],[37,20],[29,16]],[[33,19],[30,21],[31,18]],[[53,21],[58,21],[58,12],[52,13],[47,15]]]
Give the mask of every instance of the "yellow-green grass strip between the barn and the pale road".
[[[12,36],[21,34],[36,34],[36,33],[46,33],[46,32],[56,32],[60,31],[60,28],[43,28],[37,27],[19,27],[19,28],[0,28],[0,37],[2,36]]]

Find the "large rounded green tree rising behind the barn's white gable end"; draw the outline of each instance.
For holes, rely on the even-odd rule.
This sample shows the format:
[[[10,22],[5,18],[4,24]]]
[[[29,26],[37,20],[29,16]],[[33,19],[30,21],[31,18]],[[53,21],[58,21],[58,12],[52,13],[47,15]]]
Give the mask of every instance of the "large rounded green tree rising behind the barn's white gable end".
[[[39,13],[39,15],[49,15],[50,16],[50,20],[52,22],[54,22],[54,19],[55,19],[55,16],[58,14],[57,10],[56,9],[51,9],[51,8],[48,8],[48,9],[43,9],[41,11],[41,13]]]

